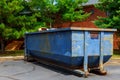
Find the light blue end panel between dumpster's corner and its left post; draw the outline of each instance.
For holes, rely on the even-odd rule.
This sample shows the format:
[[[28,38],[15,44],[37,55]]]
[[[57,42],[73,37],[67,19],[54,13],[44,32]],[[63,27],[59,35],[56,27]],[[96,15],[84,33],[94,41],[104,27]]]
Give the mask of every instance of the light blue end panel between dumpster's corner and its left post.
[[[72,31],[72,57],[84,56],[84,31]]]

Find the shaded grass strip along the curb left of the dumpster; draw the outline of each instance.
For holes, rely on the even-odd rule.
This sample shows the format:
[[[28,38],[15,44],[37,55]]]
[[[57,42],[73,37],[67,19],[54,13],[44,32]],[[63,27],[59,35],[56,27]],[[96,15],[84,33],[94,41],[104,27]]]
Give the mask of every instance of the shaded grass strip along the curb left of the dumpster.
[[[4,56],[23,56],[24,50],[16,50],[16,51],[5,51],[5,53],[0,53],[0,57]]]

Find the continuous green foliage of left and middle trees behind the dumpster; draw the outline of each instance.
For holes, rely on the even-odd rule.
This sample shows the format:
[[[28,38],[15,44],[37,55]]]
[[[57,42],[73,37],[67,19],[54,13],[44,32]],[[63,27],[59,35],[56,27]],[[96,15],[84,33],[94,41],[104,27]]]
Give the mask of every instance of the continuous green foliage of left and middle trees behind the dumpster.
[[[0,37],[18,39],[25,32],[56,22],[85,20],[89,16],[82,9],[85,2],[87,0],[0,0]]]

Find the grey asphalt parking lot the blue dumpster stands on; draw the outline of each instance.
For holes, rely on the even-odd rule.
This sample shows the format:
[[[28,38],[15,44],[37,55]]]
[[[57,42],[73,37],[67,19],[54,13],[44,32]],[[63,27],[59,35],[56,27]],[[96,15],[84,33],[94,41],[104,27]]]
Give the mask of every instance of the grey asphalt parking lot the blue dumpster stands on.
[[[0,80],[120,80],[120,60],[110,60],[105,69],[106,76],[90,73],[88,78],[84,78],[38,62],[9,60],[0,62]]]

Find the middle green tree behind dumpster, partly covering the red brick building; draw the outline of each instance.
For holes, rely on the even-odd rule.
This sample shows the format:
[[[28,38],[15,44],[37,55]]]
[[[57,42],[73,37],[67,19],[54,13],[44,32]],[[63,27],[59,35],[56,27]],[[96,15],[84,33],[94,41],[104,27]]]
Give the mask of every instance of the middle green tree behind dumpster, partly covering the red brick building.
[[[52,27],[54,23],[64,21],[82,21],[89,14],[82,9],[88,0],[29,0],[32,9],[41,13],[40,20]]]

